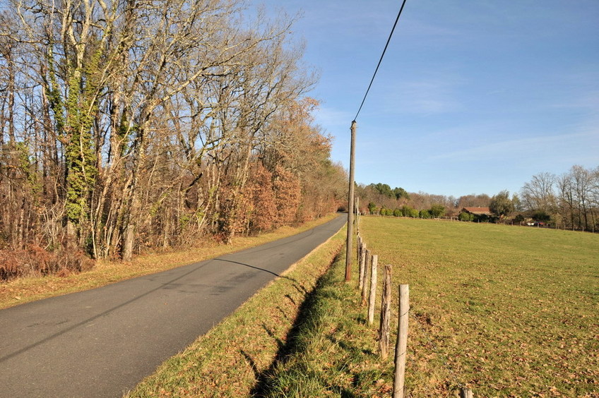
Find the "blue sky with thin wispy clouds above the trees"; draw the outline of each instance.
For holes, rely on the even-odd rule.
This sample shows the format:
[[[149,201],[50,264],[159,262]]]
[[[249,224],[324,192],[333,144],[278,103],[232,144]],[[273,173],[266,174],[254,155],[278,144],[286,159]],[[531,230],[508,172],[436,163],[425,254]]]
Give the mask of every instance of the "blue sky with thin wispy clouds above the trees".
[[[316,123],[350,124],[401,1],[252,0],[302,18]],[[441,195],[517,192],[599,166],[599,1],[408,0],[357,118],[355,179]]]

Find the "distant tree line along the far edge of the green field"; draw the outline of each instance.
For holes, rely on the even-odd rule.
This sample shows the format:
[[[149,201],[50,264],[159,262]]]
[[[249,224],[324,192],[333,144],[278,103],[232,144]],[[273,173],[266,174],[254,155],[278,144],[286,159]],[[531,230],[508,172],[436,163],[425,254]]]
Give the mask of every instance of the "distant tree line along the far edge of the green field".
[[[575,165],[561,175],[542,172],[510,196],[508,191],[496,195],[465,195],[460,198],[428,193],[408,193],[384,183],[358,186],[362,201],[360,211],[396,217],[459,217],[471,221],[473,215],[461,212],[464,207],[489,207],[491,219],[552,224],[564,229],[596,231],[599,229],[599,167],[586,169]],[[489,217],[487,217],[488,219]]]

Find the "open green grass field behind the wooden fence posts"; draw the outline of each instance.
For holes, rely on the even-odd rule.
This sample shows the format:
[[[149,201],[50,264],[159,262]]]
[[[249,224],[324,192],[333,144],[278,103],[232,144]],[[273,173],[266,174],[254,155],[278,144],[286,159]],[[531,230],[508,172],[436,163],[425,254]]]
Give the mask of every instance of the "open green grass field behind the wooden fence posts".
[[[413,397],[599,397],[599,235],[382,217],[361,234],[410,284]]]

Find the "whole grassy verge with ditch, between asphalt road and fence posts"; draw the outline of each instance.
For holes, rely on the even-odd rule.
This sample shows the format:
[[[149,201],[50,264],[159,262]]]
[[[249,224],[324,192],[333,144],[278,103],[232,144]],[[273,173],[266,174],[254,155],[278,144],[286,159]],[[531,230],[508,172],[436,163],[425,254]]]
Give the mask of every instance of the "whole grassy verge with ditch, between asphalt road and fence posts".
[[[342,230],[128,397],[388,397],[393,369],[380,363],[376,330],[354,284],[344,282],[344,237]]]

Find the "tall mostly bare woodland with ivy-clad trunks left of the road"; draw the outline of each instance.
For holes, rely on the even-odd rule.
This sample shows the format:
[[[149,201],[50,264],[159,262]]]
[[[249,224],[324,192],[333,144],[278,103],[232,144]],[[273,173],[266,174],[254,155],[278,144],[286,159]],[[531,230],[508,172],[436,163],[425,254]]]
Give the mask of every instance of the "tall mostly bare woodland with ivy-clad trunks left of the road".
[[[336,210],[291,23],[235,0],[8,1],[0,248],[129,260]]]

